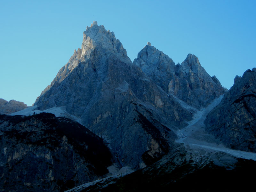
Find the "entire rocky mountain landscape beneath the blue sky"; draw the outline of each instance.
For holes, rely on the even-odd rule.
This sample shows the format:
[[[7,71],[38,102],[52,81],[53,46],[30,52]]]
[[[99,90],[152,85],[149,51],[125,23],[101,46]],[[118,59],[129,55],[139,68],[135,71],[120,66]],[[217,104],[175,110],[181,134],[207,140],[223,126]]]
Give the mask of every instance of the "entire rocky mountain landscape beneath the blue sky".
[[[30,116],[0,115],[1,189],[165,191],[190,183],[196,191],[206,179],[199,191],[214,191],[222,178],[239,180],[255,166],[239,159],[256,159],[244,152],[256,152],[255,74],[237,76],[228,91],[195,55],[175,64],[150,42],[132,62],[114,32],[94,21],[81,49],[20,111]],[[139,170],[123,178],[127,167]]]

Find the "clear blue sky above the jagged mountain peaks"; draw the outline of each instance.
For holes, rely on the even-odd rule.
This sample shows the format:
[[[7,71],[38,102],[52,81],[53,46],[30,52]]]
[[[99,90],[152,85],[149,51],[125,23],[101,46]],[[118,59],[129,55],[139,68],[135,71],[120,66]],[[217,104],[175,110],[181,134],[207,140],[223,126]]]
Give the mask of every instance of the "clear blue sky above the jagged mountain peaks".
[[[93,20],[133,61],[151,42],[175,63],[195,54],[230,88],[256,67],[256,1],[1,1],[0,98],[32,105],[81,48]]]

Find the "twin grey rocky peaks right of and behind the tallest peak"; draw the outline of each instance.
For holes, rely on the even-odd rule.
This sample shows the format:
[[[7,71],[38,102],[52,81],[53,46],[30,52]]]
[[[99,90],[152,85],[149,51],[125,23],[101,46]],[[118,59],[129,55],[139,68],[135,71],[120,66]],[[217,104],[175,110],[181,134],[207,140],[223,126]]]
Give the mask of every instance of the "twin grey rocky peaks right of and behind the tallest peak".
[[[226,91],[216,76],[211,77],[192,54],[175,65],[148,42],[133,63],[166,93],[198,109],[206,107]]]

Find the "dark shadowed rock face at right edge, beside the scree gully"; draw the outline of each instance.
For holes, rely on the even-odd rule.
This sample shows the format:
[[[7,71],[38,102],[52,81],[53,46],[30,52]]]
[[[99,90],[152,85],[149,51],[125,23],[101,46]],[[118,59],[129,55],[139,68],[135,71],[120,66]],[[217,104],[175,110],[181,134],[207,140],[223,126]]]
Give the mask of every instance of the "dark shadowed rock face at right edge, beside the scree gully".
[[[204,123],[206,130],[228,147],[256,152],[256,68],[236,76],[234,85],[213,108]]]

